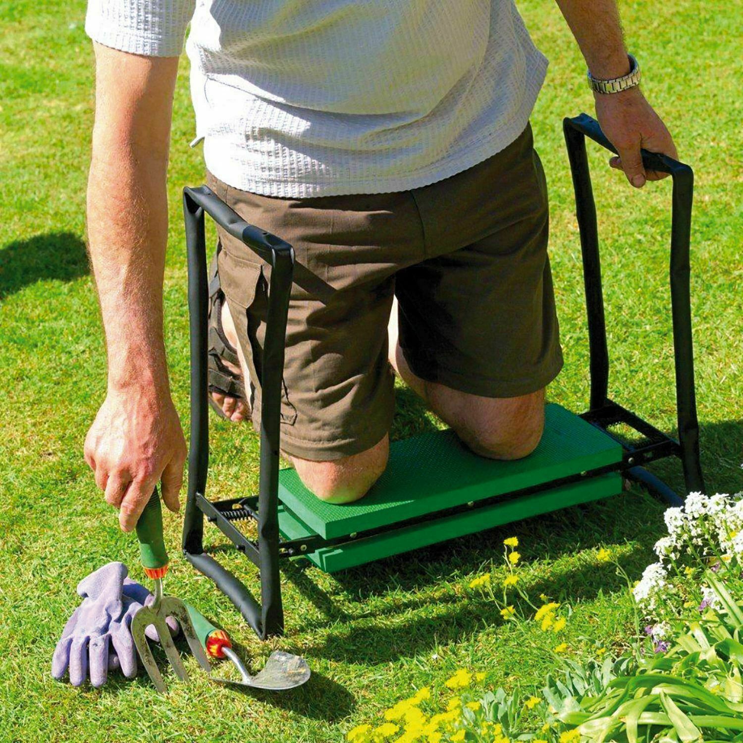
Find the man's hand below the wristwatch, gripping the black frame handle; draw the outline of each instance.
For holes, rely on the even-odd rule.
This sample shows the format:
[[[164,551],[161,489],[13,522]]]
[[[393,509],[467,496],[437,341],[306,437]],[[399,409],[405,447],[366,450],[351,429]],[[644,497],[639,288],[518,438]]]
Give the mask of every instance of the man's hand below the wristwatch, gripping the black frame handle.
[[[597,93],[595,98],[601,129],[619,152],[618,157],[609,160],[609,165],[623,170],[636,188],[642,188],[646,181],[666,178],[666,173],[646,171],[643,167],[640,148],[661,152],[675,160],[678,153],[666,125],[645,100],[640,88],[609,95]]]

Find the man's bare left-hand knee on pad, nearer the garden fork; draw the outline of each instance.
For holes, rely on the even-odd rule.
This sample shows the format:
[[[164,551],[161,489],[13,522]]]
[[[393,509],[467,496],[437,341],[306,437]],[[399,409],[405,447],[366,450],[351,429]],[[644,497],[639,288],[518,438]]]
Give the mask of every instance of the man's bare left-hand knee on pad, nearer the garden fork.
[[[352,503],[363,498],[379,479],[389,458],[389,437],[358,454],[331,461],[311,461],[291,457],[296,473],[320,500]]]

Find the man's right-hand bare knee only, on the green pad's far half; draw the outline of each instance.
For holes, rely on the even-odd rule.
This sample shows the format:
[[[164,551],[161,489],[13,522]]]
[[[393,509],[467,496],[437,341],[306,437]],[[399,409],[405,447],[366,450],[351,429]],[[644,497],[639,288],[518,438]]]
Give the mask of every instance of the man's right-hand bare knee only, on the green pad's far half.
[[[493,400],[464,416],[455,430],[476,454],[489,459],[522,459],[536,449],[545,426],[544,393]]]

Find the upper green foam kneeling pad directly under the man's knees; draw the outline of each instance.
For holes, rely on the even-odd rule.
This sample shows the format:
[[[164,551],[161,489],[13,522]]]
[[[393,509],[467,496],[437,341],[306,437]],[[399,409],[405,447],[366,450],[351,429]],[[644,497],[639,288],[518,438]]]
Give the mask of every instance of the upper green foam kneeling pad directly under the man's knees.
[[[358,502],[336,505],[317,499],[293,469],[279,473],[279,500],[311,533],[334,539],[538,487],[621,458],[622,447],[611,436],[553,403],[545,409],[542,441],[523,459],[480,457],[450,430],[424,433],[391,445],[385,472]],[[530,515],[525,509],[523,516]]]

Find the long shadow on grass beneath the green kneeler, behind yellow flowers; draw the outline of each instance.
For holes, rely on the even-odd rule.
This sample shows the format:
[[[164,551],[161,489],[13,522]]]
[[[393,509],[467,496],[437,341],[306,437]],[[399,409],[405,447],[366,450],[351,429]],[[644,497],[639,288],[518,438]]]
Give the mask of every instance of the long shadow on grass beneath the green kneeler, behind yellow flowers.
[[[529,562],[550,560],[554,563],[549,577],[535,575],[530,579],[531,595],[545,593],[556,600],[570,597],[571,601],[586,601],[602,592],[622,590],[623,578],[617,576],[611,564],[597,565],[587,561],[577,567],[573,563],[562,571],[559,561],[600,545],[629,542],[633,549],[621,557],[620,565],[628,574],[639,575],[652,559],[652,545],[663,526],[662,514],[663,504],[646,494],[625,493],[604,502],[535,516],[334,574],[337,588],[356,603],[385,597],[393,589],[400,594],[394,606],[387,604],[382,609],[360,612],[343,609],[339,600],[318,585],[315,569],[306,562],[289,563],[283,573],[294,588],[322,612],[325,622],[338,626],[337,637],[326,637],[324,644],[311,650],[311,654],[342,660],[347,659],[350,648],[356,648],[361,654],[360,662],[384,663],[398,658],[400,653],[414,655],[434,648],[437,643],[455,642],[481,631],[484,626],[502,624],[495,604],[464,594],[462,587],[468,580],[464,576],[480,571],[484,564],[484,569],[489,571],[491,560],[498,569],[504,537],[518,536]],[[409,623],[395,620],[395,617],[426,609],[431,603],[435,603],[435,609],[430,617],[416,615]],[[375,619],[380,620],[378,628],[367,624]],[[390,620],[393,626],[385,626]],[[313,623],[296,629],[315,628]]]

